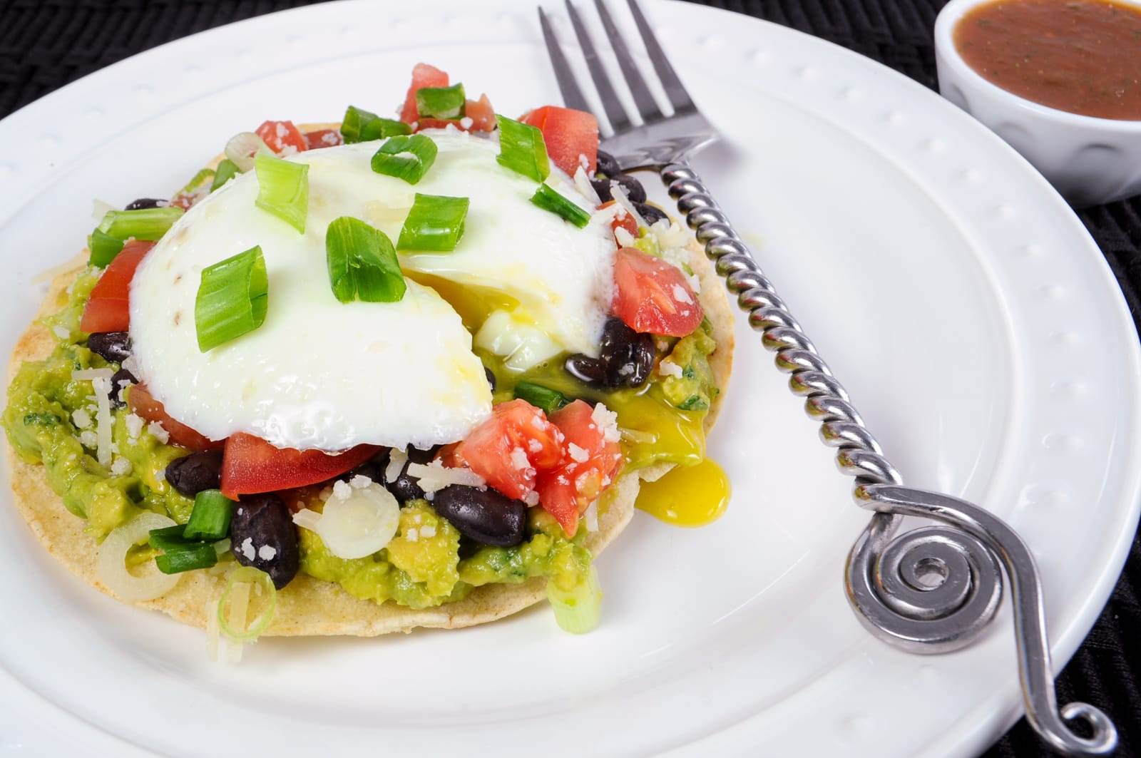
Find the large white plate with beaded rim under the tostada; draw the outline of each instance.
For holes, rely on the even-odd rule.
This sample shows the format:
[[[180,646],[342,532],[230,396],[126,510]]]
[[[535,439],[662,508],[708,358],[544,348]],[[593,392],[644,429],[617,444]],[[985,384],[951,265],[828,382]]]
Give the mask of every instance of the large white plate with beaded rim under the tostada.
[[[992,508],[1033,546],[1060,667],[1138,518],[1139,350],[1100,252],[1027,163],[922,87],[772,24],[647,6],[726,137],[697,168],[907,481]],[[92,197],[168,194],[265,118],[394,106],[420,59],[505,113],[558,100],[531,3],[358,2],[163,46],[0,122],[0,347],[34,312],[32,276],[90,231]],[[868,637],[841,590],[866,515],[756,337],[741,328],[738,340],[711,441],[736,487],[729,513],[697,531],[639,515],[599,561],[606,616],[585,637],[539,607],[463,631],[269,640],[241,667],[213,666],[200,631],[90,590],[0,509],[0,745],[981,749],[1020,710],[1009,611],[953,655]]]

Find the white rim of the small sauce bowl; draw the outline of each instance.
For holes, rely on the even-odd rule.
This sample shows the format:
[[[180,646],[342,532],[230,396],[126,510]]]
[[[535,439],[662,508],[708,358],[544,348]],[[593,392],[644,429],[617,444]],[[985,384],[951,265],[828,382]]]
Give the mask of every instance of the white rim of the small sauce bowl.
[[[1022,111],[1031,115],[1050,119],[1065,126],[1078,127],[1083,129],[1099,129],[1101,131],[1112,131],[1124,135],[1141,134],[1141,119],[1103,119],[1094,115],[1084,115],[1071,111],[1043,105],[1035,100],[1015,95],[1008,89],[1003,89],[974,68],[972,68],[958,51],[955,45],[954,31],[958,22],[970,10],[978,6],[992,2],[1003,2],[1004,0],[950,0],[934,21],[934,48],[937,58],[941,58],[947,65],[955,68],[955,73],[971,82],[973,87],[984,89],[994,96],[1005,98]],[[1011,1],[1011,0],[1005,0]],[[1013,0],[1017,1],[1017,0]],[[1114,0],[1123,5],[1136,6],[1141,10],[1141,0]],[[940,82],[941,83],[941,82]]]

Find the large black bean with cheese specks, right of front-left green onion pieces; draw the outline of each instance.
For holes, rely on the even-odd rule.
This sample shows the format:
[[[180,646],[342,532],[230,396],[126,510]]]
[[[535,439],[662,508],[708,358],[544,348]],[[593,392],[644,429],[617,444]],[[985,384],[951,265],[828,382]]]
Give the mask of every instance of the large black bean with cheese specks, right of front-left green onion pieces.
[[[297,575],[300,566],[297,527],[293,526],[289,508],[277,495],[254,494],[242,498],[234,508],[229,541],[237,562],[269,574],[277,589],[289,584]]]

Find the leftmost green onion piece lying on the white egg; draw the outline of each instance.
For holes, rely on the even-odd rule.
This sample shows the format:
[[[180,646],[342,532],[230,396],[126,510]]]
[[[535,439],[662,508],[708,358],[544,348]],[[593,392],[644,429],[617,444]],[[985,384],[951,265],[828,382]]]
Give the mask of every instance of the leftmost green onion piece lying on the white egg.
[[[207,266],[194,300],[199,349],[205,353],[253,331],[266,320],[269,275],[260,247]]]

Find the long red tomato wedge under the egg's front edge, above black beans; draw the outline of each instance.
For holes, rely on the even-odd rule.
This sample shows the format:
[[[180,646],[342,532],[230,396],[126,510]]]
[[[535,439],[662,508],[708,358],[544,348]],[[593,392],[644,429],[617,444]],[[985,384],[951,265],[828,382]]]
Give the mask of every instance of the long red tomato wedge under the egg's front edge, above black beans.
[[[356,468],[377,454],[377,445],[357,445],[339,455],[319,450],[274,447],[252,434],[226,438],[221,454],[221,491],[227,498],[316,484]]]

